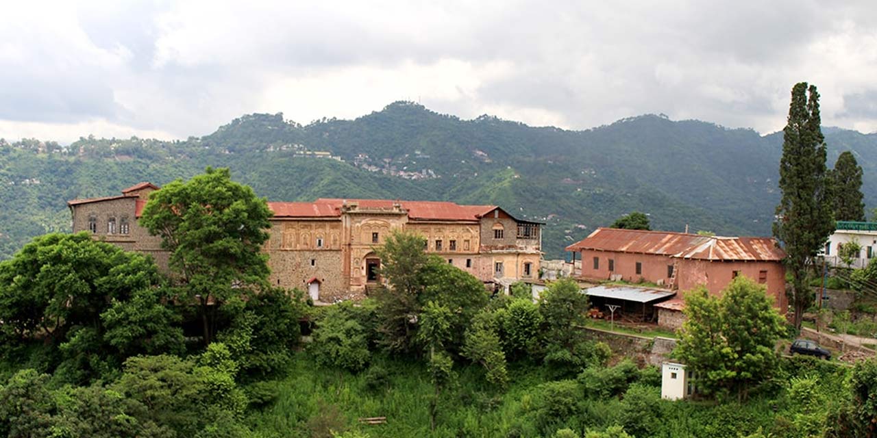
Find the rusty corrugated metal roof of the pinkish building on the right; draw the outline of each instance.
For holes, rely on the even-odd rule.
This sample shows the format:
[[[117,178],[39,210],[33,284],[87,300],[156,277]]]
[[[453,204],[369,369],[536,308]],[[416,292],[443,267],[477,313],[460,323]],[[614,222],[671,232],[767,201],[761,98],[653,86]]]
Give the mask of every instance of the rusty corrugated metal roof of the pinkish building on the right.
[[[656,254],[700,260],[780,261],[786,253],[772,237],[716,237],[667,231],[600,228],[567,251]]]

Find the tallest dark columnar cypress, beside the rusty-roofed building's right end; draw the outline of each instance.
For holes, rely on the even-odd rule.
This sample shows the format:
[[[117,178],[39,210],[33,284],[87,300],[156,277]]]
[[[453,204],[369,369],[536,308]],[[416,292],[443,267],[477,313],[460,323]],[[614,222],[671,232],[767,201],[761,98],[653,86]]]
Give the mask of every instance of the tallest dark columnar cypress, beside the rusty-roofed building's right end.
[[[831,182],[825,167],[825,138],[820,128],[816,86],[799,82],[792,88],[788,124],[783,129],[780,159],[782,199],[776,208],[774,236],[786,251],[792,274],[789,299],[795,307],[795,328],[801,328],[804,310],[814,300],[807,284],[808,268],[831,232]]]

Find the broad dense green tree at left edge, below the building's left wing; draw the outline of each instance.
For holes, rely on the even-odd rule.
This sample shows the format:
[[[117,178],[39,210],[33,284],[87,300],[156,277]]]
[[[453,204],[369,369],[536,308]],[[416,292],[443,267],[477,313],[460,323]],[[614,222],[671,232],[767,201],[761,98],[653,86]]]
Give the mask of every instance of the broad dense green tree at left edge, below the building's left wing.
[[[158,282],[150,259],[88,233],[35,237],[0,264],[0,327],[18,339],[42,331],[62,342],[74,327],[99,328],[111,300]]]

